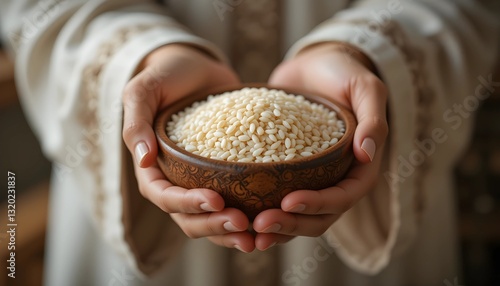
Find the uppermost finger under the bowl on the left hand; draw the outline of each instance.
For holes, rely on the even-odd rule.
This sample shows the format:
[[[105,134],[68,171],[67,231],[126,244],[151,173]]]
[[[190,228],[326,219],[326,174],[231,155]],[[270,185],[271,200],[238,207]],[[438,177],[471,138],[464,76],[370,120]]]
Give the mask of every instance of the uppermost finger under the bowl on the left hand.
[[[208,189],[174,186],[156,166],[135,168],[139,190],[146,199],[167,213],[203,213],[224,209],[224,199]]]

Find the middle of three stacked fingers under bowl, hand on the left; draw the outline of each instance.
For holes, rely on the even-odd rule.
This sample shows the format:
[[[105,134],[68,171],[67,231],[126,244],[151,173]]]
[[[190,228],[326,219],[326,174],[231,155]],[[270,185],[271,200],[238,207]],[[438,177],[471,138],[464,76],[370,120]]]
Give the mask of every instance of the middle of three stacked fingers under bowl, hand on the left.
[[[190,238],[242,232],[249,224],[245,214],[233,208],[214,213],[171,214],[171,217]]]

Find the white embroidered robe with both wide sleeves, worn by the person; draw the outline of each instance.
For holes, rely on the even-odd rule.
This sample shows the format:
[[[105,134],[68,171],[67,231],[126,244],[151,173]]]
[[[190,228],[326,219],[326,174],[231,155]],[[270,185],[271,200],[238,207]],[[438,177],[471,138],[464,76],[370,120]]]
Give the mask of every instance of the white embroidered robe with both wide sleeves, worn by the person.
[[[377,188],[322,237],[250,255],[187,239],[135,186],[121,95],[137,64],[176,42],[226,61],[229,18],[245,6],[166,2],[170,14],[148,1],[0,3],[22,104],[54,162],[46,285],[460,281],[451,170],[477,104],[499,86],[496,1],[282,1],[283,56],[344,41],[372,59],[390,92],[390,136]]]

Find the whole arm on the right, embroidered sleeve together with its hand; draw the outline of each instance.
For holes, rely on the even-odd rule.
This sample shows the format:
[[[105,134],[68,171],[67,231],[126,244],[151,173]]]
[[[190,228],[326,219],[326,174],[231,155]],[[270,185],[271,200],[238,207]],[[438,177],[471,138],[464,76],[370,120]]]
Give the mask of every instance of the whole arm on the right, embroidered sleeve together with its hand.
[[[423,187],[429,173],[447,175],[470,131],[472,120],[449,110],[475,93],[478,77],[491,81],[498,9],[495,16],[494,1],[483,1],[491,3],[489,9],[476,2],[358,1],[292,47],[271,82],[298,84],[351,106],[359,123],[353,146],[358,162],[338,186],[293,192],[283,199],[281,212],[257,217],[258,248],[324,232],[347,265],[375,274],[411,244],[430,203]],[[386,89],[375,75],[388,91],[387,142],[384,124],[375,124],[386,121]],[[405,164],[415,154],[415,142],[444,136],[436,131],[448,140],[436,143],[439,159],[429,155]],[[362,152],[368,137],[375,142],[371,162]],[[278,230],[270,228],[276,224]]]

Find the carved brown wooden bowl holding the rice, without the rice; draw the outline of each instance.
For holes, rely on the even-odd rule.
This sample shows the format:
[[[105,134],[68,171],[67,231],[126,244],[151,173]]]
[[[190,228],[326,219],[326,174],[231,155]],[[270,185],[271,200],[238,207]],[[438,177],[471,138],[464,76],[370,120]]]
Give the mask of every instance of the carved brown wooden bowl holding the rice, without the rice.
[[[345,134],[332,147],[309,157],[272,163],[241,163],[209,159],[178,147],[167,136],[171,116],[202,101],[208,95],[239,90],[244,87],[281,89],[303,95],[311,102],[321,103],[337,112],[345,122]],[[339,182],[353,161],[352,141],[356,120],[353,114],[331,99],[308,92],[272,87],[266,84],[246,84],[222,87],[192,94],[160,112],[155,121],[158,140],[158,163],[166,178],[187,189],[208,188],[221,194],[226,207],[242,210],[250,220],[263,210],[280,208],[281,200],[295,190],[320,190]]]

